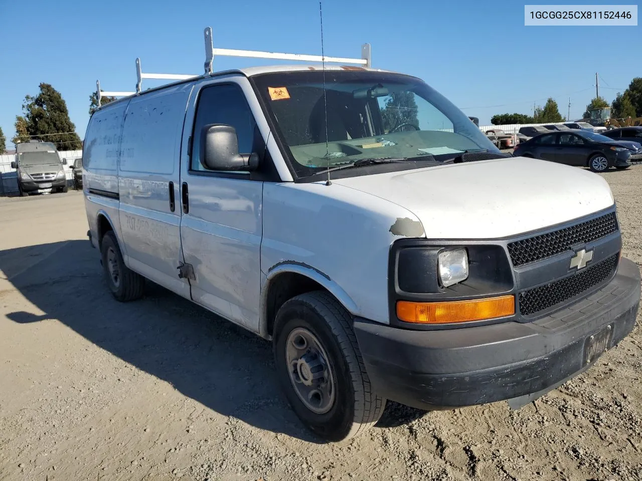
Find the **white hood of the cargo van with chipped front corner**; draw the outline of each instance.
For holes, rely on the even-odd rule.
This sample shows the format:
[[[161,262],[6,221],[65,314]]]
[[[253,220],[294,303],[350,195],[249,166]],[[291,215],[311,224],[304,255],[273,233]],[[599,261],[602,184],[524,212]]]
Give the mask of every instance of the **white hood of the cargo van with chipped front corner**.
[[[593,214],[614,203],[598,174],[512,157],[333,180],[406,208],[429,239],[497,239]]]

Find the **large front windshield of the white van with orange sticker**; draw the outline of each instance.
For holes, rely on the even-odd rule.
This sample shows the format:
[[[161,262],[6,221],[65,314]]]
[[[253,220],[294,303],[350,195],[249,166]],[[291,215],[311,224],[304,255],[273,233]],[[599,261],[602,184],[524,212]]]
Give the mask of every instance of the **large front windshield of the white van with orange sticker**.
[[[299,177],[366,158],[415,159],[428,167],[467,150],[497,151],[463,112],[417,78],[328,70],[325,99],[322,71],[252,80]]]

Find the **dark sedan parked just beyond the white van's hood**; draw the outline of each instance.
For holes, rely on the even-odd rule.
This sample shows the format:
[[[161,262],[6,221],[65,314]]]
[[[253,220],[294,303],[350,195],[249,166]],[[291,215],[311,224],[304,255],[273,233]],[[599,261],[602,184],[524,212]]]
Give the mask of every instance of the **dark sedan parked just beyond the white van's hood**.
[[[603,172],[609,167],[630,167],[632,150],[609,137],[587,130],[569,130],[538,135],[513,151],[514,156],[534,157],[560,164],[589,167]]]

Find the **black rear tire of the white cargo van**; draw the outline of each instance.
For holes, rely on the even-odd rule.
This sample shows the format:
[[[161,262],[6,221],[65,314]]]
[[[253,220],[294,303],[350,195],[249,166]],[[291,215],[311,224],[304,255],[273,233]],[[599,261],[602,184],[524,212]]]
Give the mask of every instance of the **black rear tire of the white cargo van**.
[[[103,236],[100,251],[105,281],[114,298],[121,302],[140,299],[143,296],[145,278],[125,266],[113,231],[109,230]],[[112,275],[112,263],[117,268],[117,280]]]

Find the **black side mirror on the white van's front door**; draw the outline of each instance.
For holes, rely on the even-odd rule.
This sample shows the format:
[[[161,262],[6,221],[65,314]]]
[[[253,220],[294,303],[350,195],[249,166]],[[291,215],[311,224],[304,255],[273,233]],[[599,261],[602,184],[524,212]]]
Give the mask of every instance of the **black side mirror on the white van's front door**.
[[[252,171],[259,165],[259,156],[239,154],[234,127],[209,124],[201,130],[200,162],[211,171]]]

